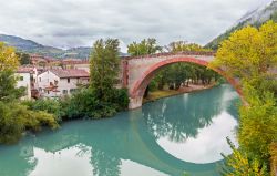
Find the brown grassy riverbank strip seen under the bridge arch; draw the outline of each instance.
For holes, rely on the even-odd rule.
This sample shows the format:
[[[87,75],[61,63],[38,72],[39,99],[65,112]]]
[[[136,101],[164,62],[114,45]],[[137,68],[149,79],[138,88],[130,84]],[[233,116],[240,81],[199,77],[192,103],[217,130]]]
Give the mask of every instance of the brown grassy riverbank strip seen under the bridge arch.
[[[217,85],[217,83],[208,84],[208,85],[198,85],[198,84],[189,84],[189,86],[183,86],[179,90],[157,90],[154,92],[150,92],[147,97],[143,99],[143,104],[156,101],[158,99],[163,97],[170,97],[178,94],[184,94],[184,93],[192,93],[192,92],[197,92],[197,91],[203,91],[203,90],[208,90]]]

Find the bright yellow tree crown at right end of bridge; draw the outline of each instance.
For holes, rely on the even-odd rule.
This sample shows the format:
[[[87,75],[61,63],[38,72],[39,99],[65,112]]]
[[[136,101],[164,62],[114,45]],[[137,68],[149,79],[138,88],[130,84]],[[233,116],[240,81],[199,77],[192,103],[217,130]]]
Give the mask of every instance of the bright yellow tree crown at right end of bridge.
[[[236,31],[218,49],[214,68],[225,68],[229,75],[244,80],[268,77],[277,66],[277,24],[267,22],[259,29],[246,27]]]

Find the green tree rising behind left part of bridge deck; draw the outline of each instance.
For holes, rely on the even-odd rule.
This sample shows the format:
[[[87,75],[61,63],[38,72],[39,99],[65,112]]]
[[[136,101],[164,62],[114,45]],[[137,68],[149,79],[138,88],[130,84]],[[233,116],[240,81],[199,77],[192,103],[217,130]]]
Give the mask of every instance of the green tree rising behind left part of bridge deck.
[[[141,43],[133,42],[127,45],[127,53],[132,56],[155,54],[162,51],[162,46],[156,44],[156,39],[144,39]]]

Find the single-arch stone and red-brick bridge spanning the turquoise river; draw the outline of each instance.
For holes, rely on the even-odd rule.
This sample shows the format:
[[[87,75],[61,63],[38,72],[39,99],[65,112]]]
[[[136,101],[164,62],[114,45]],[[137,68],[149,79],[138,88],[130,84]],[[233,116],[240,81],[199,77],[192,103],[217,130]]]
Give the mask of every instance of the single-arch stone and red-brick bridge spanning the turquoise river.
[[[188,62],[207,66],[214,60],[214,52],[182,52],[160,53],[143,56],[125,56],[122,59],[122,86],[129,90],[129,108],[142,106],[144,92],[154,75],[163,68],[178,63]],[[228,77],[223,69],[214,70],[223,75],[238,92],[238,80]]]

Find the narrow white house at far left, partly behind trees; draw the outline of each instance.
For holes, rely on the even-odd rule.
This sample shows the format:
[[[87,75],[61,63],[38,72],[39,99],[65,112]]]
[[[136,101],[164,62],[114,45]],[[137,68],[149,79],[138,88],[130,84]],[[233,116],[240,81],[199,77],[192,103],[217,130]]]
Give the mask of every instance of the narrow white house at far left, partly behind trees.
[[[34,90],[37,85],[37,74],[35,68],[21,66],[17,70],[17,87],[25,87],[25,95],[22,99],[30,100],[32,97],[32,90]]]

